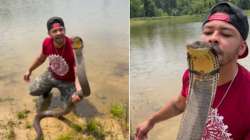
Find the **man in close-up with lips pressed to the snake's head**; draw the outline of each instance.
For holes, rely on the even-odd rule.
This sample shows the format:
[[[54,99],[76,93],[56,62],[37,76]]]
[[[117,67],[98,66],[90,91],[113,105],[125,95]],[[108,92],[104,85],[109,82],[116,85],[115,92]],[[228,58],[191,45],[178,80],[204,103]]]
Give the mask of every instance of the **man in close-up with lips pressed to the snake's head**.
[[[220,77],[202,140],[250,140],[250,73],[237,63],[248,55],[248,31],[247,16],[229,2],[216,4],[203,22],[201,40],[218,44],[223,53],[219,56]],[[136,140],[146,138],[156,123],[185,110],[188,86],[189,72],[185,71],[181,94],[137,126]]]

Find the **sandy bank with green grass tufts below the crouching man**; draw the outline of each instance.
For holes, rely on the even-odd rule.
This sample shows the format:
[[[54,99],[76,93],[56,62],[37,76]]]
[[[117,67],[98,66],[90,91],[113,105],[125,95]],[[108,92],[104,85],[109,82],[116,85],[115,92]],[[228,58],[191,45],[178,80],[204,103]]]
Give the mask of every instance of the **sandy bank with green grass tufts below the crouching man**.
[[[15,99],[5,98],[1,103],[12,104]],[[35,102],[35,100],[34,100]],[[34,103],[35,104],[35,103]],[[85,99],[77,106],[87,105]],[[15,106],[12,104],[11,108]],[[76,107],[77,108],[77,107]],[[0,139],[34,140],[36,133],[32,126],[36,107],[20,106],[11,115],[0,121]],[[109,114],[78,114],[75,111],[63,119],[44,118],[41,126],[45,140],[126,140],[128,138],[128,112],[126,105],[113,105]]]

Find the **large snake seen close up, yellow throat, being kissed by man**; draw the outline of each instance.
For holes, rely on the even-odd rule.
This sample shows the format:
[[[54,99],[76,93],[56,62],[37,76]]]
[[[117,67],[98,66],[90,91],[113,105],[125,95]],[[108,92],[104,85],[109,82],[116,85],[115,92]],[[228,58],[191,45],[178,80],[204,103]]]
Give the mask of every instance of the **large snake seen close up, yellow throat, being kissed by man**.
[[[177,140],[201,140],[219,77],[221,50],[216,44],[194,42],[187,45],[189,95]]]

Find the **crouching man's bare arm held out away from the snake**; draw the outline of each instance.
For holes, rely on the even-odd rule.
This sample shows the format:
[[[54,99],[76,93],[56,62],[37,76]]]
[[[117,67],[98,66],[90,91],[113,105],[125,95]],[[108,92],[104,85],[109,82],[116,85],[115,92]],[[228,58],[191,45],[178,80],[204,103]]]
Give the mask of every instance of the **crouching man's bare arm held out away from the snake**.
[[[28,69],[28,71],[24,74],[24,80],[25,81],[28,82],[30,80],[30,75],[31,75],[32,71],[35,70],[37,67],[39,67],[41,64],[43,64],[44,61],[46,60],[46,58],[47,58],[47,56],[44,55],[43,53],[41,53],[40,56],[38,56],[36,58],[36,60],[30,66],[30,68]]]

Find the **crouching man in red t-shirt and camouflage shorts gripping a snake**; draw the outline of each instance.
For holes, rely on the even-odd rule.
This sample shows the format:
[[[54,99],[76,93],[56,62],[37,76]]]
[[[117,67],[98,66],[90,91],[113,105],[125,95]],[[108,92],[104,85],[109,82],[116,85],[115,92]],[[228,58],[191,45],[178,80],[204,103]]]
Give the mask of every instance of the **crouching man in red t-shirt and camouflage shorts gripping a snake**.
[[[24,80],[29,82],[32,71],[49,58],[48,70],[36,78],[30,85],[30,94],[46,98],[52,88],[58,88],[64,101],[71,99],[73,102],[80,100],[75,93],[80,90],[78,82],[75,82],[75,58],[72,41],[65,35],[65,27],[62,18],[52,17],[47,22],[48,35],[42,45],[42,52],[36,58],[24,74]],[[71,97],[71,98],[70,98]]]

